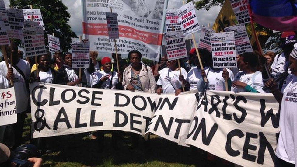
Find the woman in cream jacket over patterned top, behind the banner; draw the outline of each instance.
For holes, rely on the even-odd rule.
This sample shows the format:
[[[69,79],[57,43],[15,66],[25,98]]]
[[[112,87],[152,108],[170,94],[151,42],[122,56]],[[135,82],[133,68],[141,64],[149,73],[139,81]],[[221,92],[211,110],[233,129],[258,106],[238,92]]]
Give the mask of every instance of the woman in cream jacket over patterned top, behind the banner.
[[[137,50],[129,52],[128,58],[131,64],[123,73],[123,89],[155,93],[157,85],[154,74],[149,66],[141,64],[141,56],[141,53]]]

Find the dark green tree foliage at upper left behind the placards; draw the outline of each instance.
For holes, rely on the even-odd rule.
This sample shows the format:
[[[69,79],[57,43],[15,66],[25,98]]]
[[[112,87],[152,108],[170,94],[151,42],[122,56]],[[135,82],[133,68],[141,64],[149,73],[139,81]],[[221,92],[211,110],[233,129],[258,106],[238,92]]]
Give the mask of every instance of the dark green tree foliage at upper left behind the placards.
[[[44,39],[47,45],[47,34],[54,33],[60,38],[61,51],[67,52],[71,49],[71,38],[77,38],[76,34],[71,30],[68,21],[70,14],[67,11],[68,7],[61,0],[9,0],[10,7],[18,9],[40,9],[45,31]]]

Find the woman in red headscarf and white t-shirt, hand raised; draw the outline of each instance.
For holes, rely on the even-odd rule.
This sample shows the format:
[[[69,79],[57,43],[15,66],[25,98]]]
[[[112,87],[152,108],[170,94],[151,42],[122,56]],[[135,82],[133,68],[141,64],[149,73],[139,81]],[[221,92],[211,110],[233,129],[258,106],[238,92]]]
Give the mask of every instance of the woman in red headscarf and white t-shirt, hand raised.
[[[102,89],[116,89],[116,85],[119,82],[119,77],[117,72],[111,71],[111,59],[109,57],[103,57],[101,64],[103,71],[100,71],[96,74],[92,87]]]

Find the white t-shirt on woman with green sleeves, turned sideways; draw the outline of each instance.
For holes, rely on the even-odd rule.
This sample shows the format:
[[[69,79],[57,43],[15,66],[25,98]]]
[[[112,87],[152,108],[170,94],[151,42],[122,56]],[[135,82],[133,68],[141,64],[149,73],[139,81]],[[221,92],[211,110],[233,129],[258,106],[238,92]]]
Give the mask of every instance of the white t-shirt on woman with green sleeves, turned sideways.
[[[250,87],[257,90],[259,93],[265,93],[262,89],[264,87],[264,84],[262,80],[262,73],[260,71],[256,71],[251,74],[247,74],[243,71],[239,71],[235,75],[234,81],[240,81],[240,82],[246,83],[247,85],[250,85]],[[235,88],[233,88],[232,86],[231,91],[235,93],[246,92],[246,90],[243,87],[239,87],[239,86]]]

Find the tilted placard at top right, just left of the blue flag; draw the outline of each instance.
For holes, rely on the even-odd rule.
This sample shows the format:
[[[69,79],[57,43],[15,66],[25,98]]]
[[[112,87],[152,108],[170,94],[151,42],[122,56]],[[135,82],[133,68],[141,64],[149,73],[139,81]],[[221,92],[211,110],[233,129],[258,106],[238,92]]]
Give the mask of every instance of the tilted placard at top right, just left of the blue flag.
[[[233,12],[239,24],[250,23],[249,1],[248,0],[230,0]]]

